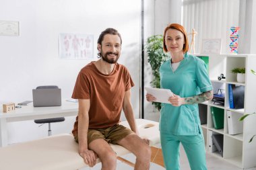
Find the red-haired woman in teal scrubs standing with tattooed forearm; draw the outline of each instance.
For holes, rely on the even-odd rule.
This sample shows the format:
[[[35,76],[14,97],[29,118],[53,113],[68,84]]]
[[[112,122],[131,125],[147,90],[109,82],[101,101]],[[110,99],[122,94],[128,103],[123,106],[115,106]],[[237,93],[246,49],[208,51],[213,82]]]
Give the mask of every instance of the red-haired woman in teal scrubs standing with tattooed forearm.
[[[187,32],[179,24],[164,30],[164,52],[170,60],[160,67],[160,85],[170,89],[170,103],[162,103],[160,138],[167,170],[179,170],[179,146],[183,144],[191,170],[205,170],[205,144],[199,120],[198,105],[213,97],[212,84],[203,60],[188,54]],[[153,95],[146,95],[154,101]]]

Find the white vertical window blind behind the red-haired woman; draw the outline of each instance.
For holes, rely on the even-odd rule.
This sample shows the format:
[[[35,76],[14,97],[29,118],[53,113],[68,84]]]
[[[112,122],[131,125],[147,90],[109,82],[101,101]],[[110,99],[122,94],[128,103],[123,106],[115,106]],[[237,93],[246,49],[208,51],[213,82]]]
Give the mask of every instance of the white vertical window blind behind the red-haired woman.
[[[183,19],[187,33],[195,28],[195,53],[203,38],[222,38],[222,53],[229,53],[230,27],[238,26],[239,0],[183,0]],[[191,36],[189,36],[189,46]]]

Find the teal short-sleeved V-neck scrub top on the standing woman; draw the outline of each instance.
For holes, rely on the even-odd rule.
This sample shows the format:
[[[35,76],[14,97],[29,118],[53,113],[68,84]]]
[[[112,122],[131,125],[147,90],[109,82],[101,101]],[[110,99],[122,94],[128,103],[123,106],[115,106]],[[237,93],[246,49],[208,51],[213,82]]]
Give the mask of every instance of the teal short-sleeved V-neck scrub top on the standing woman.
[[[172,71],[170,60],[160,67],[160,85],[181,97],[192,97],[212,90],[205,62],[185,53],[176,71]],[[205,113],[206,114],[206,113]],[[174,135],[197,135],[201,127],[198,104],[173,106],[162,103],[160,130]]]

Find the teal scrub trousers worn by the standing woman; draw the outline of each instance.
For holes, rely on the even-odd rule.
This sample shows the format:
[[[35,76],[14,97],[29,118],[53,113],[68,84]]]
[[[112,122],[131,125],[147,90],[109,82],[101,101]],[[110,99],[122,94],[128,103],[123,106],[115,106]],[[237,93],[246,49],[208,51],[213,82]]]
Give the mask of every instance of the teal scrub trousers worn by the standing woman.
[[[180,143],[187,154],[191,170],[207,170],[203,135],[173,135],[161,132],[162,153],[166,170],[179,170]]]

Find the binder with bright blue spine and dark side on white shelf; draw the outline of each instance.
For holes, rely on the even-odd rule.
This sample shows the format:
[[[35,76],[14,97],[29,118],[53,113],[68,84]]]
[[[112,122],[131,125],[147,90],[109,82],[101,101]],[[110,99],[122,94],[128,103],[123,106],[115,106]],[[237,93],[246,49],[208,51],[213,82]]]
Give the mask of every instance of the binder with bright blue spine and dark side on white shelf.
[[[242,109],[245,102],[245,86],[228,84],[230,109]]]

